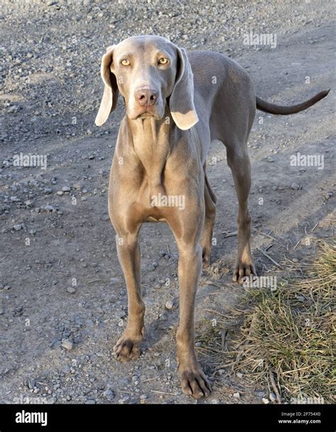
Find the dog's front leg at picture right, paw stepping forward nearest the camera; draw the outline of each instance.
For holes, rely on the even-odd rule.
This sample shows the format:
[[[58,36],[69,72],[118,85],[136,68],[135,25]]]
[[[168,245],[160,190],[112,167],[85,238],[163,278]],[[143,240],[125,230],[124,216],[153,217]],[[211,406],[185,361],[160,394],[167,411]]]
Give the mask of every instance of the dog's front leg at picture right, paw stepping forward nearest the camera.
[[[177,330],[177,362],[181,386],[192,397],[207,397],[211,387],[201,370],[195,353],[194,308],[196,290],[202,268],[200,244],[190,245],[177,241],[179,247],[179,329]]]

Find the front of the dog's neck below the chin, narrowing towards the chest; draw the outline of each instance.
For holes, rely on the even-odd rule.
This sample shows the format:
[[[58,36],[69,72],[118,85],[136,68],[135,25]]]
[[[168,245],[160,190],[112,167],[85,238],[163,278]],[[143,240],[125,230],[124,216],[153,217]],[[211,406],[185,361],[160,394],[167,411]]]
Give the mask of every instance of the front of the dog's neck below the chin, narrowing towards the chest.
[[[126,118],[133,149],[145,169],[150,196],[165,195],[163,181],[164,166],[171,152],[172,133],[177,127],[166,108],[161,120],[152,117],[130,120]]]

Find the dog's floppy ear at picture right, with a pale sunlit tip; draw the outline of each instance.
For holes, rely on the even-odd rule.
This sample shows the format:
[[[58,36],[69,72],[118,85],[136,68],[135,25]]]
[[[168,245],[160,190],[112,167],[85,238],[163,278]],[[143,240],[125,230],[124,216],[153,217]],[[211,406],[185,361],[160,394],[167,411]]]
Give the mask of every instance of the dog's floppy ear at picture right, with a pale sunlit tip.
[[[177,47],[177,77],[169,100],[172,118],[181,130],[190,129],[198,122],[194,106],[193,72],[186,50]]]

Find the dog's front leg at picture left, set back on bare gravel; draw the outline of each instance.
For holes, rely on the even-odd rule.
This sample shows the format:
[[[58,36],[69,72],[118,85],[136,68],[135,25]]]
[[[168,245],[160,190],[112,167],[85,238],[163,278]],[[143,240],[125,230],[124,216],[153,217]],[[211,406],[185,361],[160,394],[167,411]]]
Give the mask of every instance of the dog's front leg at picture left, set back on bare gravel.
[[[118,258],[123,268],[128,292],[128,322],[123,335],[114,346],[120,361],[135,360],[140,356],[140,345],[145,333],[145,305],[141,296],[140,245],[136,234],[116,236]]]

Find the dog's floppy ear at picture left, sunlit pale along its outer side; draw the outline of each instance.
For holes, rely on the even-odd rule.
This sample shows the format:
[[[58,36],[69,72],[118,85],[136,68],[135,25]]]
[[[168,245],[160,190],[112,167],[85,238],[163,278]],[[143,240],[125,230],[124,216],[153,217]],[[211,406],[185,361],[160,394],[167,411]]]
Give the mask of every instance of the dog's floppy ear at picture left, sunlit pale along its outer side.
[[[108,47],[107,52],[101,59],[101,78],[105,85],[103,90],[103,98],[101,98],[101,106],[99,107],[98,114],[96,116],[97,126],[103,125],[106,122],[108,115],[116,109],[118,100],[118,86],[115,74],[111,72],[111,65],[113,63],[113,50],[112,47]]]

